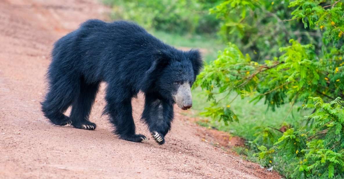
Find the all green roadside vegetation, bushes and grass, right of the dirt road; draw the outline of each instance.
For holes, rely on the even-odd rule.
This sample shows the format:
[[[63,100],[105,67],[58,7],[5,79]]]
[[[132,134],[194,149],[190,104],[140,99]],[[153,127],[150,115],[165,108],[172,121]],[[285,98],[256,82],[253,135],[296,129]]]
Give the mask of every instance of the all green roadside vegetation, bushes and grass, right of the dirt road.
[[[343,0],[105,0],[113,19],[205,49],[197,123],[286,178],[344,177]]]

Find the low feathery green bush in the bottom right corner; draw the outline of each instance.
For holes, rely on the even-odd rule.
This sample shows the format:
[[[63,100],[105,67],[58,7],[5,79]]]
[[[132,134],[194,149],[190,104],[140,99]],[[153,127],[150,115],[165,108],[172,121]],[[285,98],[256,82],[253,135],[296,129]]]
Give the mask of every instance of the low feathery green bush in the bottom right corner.
[[[269,164],[276,152],[287,155],[292,159],[290,165],[295,167],[291,177],[343,177],[344,101],[339,97],[330,103],[324,103],[320,97],[310,99],[315,104],[305,107],[314,108],[315,112],[305,118],[313,119],[315,124],[309,130],[289,128],[270,149],[258,147],[259,158]]]

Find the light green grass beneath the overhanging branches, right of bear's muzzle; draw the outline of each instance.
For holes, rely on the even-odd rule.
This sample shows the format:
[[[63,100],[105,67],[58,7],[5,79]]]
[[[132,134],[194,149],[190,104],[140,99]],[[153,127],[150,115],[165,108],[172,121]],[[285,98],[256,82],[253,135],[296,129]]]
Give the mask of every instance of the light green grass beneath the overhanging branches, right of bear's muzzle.
[[[193,110],[194,114],[198,115],[204,110],[204,107],[208,107],[206,97],[202,93],[200,88],[196,88],[192,91],[193,95]],[[236,95],[231,94],[229,100],[232,100]],[[207,125],[215,127],[218,130],[227,131],[233,135],[243,137],[246,140],[254,140],[255,134],[261,131],[260,127],[273,127],[279,129],[283,122],[299,126],[299,122],[303,120],[303,116],[309,114],[308,111],[300,110],[297,112],[298,105],[295,105],[291,112],[288,113],[290,105],[286,104],[277,108],[275,112],[267,109],[267,105],[264,104],[264,100],[259,101],[257,104],[249,103],[250,98],[241,99],[237,97],[232,104],[230,104],[232,110],[239,118],[239,122],[232,122],[225,125],[224,122],[217,120],[201,120],[200,125]],[[284,119],[285,118],[285,119]],[[277,131],[277,130],[276,130]],[[279,131],[277,131],[279,133]]]

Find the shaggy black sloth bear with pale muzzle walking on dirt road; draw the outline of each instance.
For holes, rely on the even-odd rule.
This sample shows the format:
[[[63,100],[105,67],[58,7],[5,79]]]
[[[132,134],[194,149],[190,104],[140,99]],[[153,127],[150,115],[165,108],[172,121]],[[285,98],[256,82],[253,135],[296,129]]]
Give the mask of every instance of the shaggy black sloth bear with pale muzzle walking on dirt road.
[[[141,120],[158,144],[164,144],[171,128],[173,105],[192,106],[190,87],[203,66],[198,50],[177,50],[127,21],[88,20],[57,40],[51,56],[49,89],[41,104],[53,124],[94,130],[89,114],[100,82],[106,82],[103,114],[109,115],[114,133],[133,142],[147,140],[135,133],[132,117],[131,99],[141,91]]]

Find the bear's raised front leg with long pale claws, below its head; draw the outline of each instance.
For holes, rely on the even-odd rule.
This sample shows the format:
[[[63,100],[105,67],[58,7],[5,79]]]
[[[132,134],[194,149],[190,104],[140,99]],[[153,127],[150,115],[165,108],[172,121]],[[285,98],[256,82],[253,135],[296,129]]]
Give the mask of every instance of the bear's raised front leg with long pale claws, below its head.
[[[165,135],[171,129],[173,105],[158,99],[154,94],[146,94],[142,120],[148,125],[153,139],[160,145],[165,143]]]

